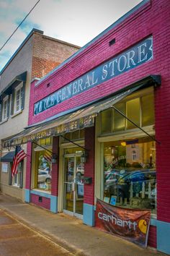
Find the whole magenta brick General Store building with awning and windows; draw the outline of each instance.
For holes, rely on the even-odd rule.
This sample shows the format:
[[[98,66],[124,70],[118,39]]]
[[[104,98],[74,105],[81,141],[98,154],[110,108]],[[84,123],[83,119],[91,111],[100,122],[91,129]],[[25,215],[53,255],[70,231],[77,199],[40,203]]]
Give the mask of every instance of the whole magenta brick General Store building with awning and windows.
[[[11,140],[27,143],[30,155],[26,202],[90,226],[97,198],[151,209],[148,244],[166,253],[169,12],[169,0],[142,1],[48,76],[32,81],[29,126]]]

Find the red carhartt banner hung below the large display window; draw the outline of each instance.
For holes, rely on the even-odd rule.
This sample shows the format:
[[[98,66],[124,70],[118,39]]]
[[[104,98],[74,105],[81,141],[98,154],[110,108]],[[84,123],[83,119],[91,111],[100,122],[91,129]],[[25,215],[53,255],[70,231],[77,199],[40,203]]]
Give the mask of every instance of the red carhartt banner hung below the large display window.
[[[120,208],[97,199],[95,226],[142,247],[147,246],[151,210]]]

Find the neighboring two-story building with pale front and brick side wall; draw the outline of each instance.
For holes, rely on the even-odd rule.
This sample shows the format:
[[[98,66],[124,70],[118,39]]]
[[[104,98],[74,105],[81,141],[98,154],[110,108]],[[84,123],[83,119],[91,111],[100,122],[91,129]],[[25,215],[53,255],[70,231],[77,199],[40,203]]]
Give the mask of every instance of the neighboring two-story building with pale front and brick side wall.
[[[78,46],[49,38],[36,29],[25,38],[0,73],[1,142],[27,127],[32,78],[43,77],[78,49]],[[24,150],[27,152],[26,147]],[[12,179],[13,157],[14,148],[1,148],[1,192],[24,200],[22,187],[24,187],[26,160],[19,164],[18,173]]]

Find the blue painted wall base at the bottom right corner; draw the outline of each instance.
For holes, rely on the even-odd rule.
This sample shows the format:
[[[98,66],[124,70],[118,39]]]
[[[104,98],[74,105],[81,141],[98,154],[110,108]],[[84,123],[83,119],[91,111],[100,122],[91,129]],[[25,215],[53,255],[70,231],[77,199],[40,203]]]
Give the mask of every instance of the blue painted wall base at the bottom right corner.
[[[170,223],[157,221],[157,249],[170,255]]]

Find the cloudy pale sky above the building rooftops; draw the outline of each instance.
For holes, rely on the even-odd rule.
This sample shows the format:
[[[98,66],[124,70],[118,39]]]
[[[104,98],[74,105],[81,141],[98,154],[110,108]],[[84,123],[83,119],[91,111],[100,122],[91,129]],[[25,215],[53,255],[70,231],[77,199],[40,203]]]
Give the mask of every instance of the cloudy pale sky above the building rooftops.
[[[0,51],[0,71],[32,28],[84,46],[142,0],[40,0]],[[37,0],[0,0],[0,48]]]

